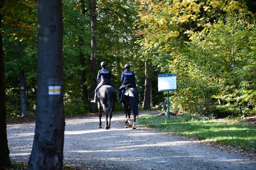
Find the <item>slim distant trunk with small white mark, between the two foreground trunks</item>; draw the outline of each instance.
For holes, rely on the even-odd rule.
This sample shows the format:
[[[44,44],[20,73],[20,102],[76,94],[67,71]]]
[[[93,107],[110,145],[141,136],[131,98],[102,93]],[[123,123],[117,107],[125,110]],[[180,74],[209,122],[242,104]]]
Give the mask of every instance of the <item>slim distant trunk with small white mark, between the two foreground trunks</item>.
[[[20,49],[21,42],[17,39],[17,51],[18,51],[18,59],[20,59]],[[22,117],[28,116],[28,104],[26,98],[26,80],[25,80],[25,72],[23,69],[20,69],[20,103],[21,103],[21,113]]]

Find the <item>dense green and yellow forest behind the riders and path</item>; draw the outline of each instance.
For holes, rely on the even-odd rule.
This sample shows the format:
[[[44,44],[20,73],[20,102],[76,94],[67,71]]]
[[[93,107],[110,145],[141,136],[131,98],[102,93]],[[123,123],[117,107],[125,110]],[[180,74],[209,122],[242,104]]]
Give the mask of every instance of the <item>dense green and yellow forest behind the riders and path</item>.
[[[63,0],[62,4],[65,114],[96,110],[90,96],[100,62],[105,61],[116,90],[124,65],[131,65],[144,109],[162,107],[167,101],[166,92],[158,92],[157,75],[176,73],[177,90],[170,95],[174,112],[255,115],[255,1]],[[36,1],[0,5],[7,116],[34,114]]]

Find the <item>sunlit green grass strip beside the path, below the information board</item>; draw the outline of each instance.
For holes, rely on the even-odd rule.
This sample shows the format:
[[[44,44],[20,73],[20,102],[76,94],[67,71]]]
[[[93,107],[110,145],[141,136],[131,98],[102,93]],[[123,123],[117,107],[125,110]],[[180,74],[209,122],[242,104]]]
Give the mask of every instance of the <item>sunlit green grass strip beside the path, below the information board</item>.
[[[179,136],[214,141],[222,145],[240,146],[255,152],[256,127],[241,119],[213,119],[183,114],[179,116],[158,116],[143,114],[138,117],[142,126],[169,132]]]

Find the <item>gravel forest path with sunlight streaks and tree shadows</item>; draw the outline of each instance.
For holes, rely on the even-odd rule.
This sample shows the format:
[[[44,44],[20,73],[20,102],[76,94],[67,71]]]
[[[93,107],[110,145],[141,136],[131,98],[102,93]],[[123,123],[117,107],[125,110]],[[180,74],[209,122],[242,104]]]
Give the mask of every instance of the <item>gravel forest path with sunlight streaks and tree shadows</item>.
[[[256,169],[255,157],[159,133],[138,121],[137,129],[124,126],[123,114],[113,115],[109,130],[98,129],[97,115],[66,119],[64,164],[97,170]],[[7,125],[12,161],[28,161],[34,128],[31,123]]]

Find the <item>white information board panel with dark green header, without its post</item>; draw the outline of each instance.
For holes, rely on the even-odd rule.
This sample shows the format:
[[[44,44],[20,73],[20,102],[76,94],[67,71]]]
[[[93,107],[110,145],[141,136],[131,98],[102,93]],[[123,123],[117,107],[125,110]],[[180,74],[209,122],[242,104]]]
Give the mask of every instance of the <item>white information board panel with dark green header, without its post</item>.
[[[158,91],[177,90],[176,73],[158,75]]]

